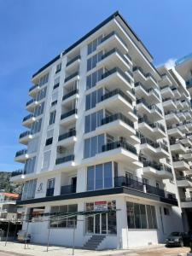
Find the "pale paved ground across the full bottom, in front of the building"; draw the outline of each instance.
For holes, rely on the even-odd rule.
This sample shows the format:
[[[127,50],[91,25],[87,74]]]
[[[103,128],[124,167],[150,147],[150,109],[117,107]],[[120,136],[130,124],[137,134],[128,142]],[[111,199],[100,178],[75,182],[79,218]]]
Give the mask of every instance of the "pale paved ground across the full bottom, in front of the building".
[[[49,247],[47,252],[47,247],[42,245],[30,244],[26,249],[23,243],[18,242],[8,242],[5,247],[4,241],[0,241],[0,256],[3,253],[9,253],[9,255],[26,255],[26,256],[68,256],[73,255],[73,249],[67,247]],[[74,255],[77,256],[177,256],[183,255],[189,252],[188,247],[183,248],[165,248],[163,245],[160,246],[150,246],[135,250],[105,250],[105,251],[89,251],[84,249],[75,249]]]

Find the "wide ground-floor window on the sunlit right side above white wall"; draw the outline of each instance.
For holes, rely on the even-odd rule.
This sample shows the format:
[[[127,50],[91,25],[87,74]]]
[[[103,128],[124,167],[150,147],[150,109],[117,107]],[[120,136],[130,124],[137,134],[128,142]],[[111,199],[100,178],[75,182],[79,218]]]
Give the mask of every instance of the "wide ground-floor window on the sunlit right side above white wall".
[[[129,229],[157,229],[154,206],[126,202]]]

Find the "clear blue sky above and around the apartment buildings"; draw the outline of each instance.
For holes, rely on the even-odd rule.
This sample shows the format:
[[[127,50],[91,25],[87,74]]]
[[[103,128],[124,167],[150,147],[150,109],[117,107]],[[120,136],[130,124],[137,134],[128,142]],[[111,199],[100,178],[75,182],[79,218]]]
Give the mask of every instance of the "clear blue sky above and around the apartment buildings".
[[[0,0],[0,171],[14,162],[25,131],[30,79],[39,67],[119,10],[154,64],[192,52],[190,0]]]

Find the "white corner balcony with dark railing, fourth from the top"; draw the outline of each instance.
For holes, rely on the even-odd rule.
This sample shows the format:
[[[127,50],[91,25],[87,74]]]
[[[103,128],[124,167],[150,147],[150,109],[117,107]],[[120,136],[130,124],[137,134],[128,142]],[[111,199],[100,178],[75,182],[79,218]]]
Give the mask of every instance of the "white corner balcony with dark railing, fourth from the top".
[[[133,112],[132,100],[122,90],[115,89],[102,96],[102,101],[96,104],[97,108],[108,108],[110,112],[129,113]],[[135,119],[137,116],[135,115]]]

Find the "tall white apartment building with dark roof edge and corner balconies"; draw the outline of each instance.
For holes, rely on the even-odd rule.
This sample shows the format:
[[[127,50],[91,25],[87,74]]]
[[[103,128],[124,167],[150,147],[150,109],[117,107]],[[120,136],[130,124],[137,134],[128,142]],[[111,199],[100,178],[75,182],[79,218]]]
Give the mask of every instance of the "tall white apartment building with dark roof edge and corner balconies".
[[[75,225],[75,246],[128,248],[183,230],[163,80],[118,12],[32,76],[26,148],[15,155],[25,167],[12,177],[24,183],[18,204],[30,219],[79,214],[75,222],[26,218],[32,241],[49,232],[50,243],[72,246]]]

